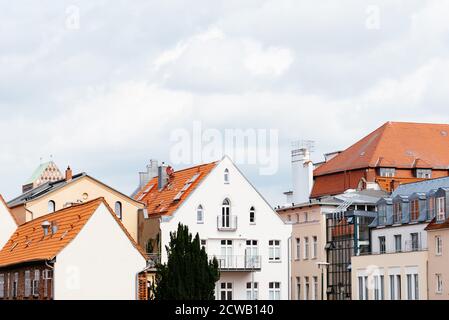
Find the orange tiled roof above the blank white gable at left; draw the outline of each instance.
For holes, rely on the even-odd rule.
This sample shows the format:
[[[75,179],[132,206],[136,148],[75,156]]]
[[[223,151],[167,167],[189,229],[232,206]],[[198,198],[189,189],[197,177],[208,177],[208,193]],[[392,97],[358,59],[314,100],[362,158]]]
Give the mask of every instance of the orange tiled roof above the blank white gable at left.
[[[133,245],[146,258],[143,250],[132,239],[104,199],[98,198],[39,217],[19,226],[0,251],[0,267],[23,262],[52,260],[76,238],[102,203],[106,205]],[[44,221],[55,223],[58,226],[57,232],[53,235],[49,232],[49,235],[44,236],[41,226]]]

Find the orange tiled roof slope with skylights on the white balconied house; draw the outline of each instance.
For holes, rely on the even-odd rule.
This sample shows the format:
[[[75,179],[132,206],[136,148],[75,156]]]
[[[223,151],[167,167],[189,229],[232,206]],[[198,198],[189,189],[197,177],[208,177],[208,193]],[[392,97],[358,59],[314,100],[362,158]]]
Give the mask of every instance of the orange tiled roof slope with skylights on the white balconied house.
[[[172,215],[182,202],[196,189],[198,184],[214,169],[217,162],[203,164],[173,173],[168,184],[161,191],[158,190],[158,178],[153,178],[135,196],[134,199],[147,205],[149,215]],[[199,176],[188,187],[179,200],[174,200],[186,183]]]

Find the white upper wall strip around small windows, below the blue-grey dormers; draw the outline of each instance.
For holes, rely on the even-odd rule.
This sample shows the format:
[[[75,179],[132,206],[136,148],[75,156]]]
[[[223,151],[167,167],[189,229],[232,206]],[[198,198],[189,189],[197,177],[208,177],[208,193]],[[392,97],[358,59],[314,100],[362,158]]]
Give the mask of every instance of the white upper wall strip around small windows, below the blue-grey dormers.
[[[419,224],[407,224],[398,227],[389,228],[378,228],[374,229],[371,233],[372,235],[372,252],[379,252],[379,237],[385,236],[386,251],[395,251],[395,235],[402,235],[402,250],[410,251],[411,233],[418,233],[418,238],[420,241],[420,249],[427,249],[427,232],[424,230],[427,227],[427,223]],[[406,246],[406,242],[409,244]]]

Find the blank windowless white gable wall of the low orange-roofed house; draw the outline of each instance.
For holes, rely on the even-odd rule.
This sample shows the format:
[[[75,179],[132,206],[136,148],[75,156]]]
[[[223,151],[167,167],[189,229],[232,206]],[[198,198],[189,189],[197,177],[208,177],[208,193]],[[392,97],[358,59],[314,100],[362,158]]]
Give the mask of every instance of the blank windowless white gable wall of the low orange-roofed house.
[[[134,300],[146,261],[101,204],[57,256],[55,300]]]

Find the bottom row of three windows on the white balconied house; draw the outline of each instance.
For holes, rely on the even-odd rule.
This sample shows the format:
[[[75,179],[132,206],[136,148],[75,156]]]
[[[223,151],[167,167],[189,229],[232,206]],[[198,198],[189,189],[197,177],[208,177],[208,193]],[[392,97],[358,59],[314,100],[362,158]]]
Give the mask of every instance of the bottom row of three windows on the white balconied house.
[[[232,282],[219,283],[218,299],[219,300],[234,300],[234,284]],[[259,300],[259,283],[258,282],[247,282],[246,283],[246,299],[247,300]],[[268,283],[268,299],[269,300],[281,300],[281,283],[280,282]]]

